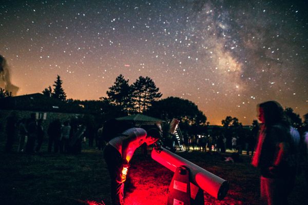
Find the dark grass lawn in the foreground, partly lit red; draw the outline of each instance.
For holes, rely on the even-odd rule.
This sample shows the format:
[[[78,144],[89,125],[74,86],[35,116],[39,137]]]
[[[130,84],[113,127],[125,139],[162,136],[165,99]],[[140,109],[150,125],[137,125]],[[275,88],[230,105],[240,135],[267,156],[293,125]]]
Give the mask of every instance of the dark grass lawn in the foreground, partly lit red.
[[[0,154],[0,204],[111,204],[109,176],[101,151],[85,145],[79,155]],[[3,150],[3,143],[0,147]],[[241,156],[242,162],[221,160],[218,154],[178,153],[198,166],[230,183],[227,196],[219,201],[204,194],[205,204],[260,204],[258,172]],[[125,204],[166,204],[173,173],[137,150],[129,180]],[[308,189],[299,175],[290,204],[308,204]]]

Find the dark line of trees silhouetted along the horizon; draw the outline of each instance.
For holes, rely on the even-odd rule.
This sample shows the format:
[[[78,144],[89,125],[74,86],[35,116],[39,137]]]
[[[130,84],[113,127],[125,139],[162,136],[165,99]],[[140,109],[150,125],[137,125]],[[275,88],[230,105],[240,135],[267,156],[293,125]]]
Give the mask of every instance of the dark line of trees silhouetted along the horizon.
[[[42,93],[48,97],[60,99],[67,104],[81,106],[85,113],[93,114],[97,121],[143,113],[164,120],[180,119],[181,129],[187,130],[191,134],[206,133],[208,130],[207,117],[195,103],[172,96],[160,99],[162,93],[159,92],[159,88],[148,76],[140,76],[133,84],[129,84],[129,80],[120,74],[106,91],[107,96],[101,97],[100,100],[67,99],[62,84],[60,75],[57,75],[52,87],[45,88]],[[1,89],[0,98],[4,97],[11,96]],[[293,127],[300,129],[308,126],[308,113],[304,115],[302,120],[292,108],[285,108],[284,112]],[[256,127],[257,124],[258,121],[254,120],[252,127]],[[240,133],[243,127],[238,118],[232,116],[226,116],[221,121],[221,125],[227,135],[232,135],[235,132]]]

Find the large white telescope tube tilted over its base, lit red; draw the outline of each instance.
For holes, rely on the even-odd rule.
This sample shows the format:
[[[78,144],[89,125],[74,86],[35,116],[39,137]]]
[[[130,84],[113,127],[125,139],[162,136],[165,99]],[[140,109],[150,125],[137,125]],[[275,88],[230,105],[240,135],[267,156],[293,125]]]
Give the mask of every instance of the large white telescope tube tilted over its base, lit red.
[[[226,180],[163,147],[154,148],[151,152],[151,157],[172,172],[175,172],[177,167],[186,166],[190,170],[190,182],[219,200],[223,199],[227,194],[228,182]]]

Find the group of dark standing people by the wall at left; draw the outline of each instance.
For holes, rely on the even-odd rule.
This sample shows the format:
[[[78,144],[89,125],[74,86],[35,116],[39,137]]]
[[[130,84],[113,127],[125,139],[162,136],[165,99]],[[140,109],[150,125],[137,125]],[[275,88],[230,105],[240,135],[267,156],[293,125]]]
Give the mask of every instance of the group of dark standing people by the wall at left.
[[[45,130],[43,119],[36,119],[35,113],[31,113],[29,118],[18,119],[16,112],[8,116],[5,131],[5,152],[12,152],[13,145],[17,144],[17,152],[28,154],[41,152],[47,137],[49,153],[80,153],[85,135],[89,138],[89,146],[92,146],[95,134],[92,126],[86,126],[78,118],[65,120],[63,123],[55,118]]]

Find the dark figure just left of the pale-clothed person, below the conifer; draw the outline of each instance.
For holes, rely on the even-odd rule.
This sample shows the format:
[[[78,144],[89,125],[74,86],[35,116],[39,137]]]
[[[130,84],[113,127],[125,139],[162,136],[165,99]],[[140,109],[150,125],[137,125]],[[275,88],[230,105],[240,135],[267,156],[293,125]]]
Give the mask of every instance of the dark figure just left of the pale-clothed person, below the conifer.
[[[50,122],[47,133],[49,136],[48,152],[51,152],[53,146],[53,151],[57,153],[60,148],[60,139],[61,139],[60,119],[55,119],[52,122]]]

